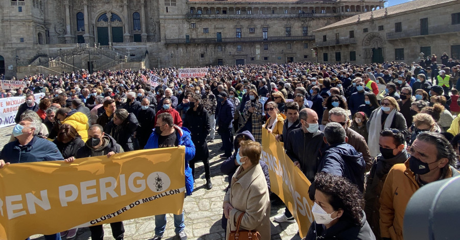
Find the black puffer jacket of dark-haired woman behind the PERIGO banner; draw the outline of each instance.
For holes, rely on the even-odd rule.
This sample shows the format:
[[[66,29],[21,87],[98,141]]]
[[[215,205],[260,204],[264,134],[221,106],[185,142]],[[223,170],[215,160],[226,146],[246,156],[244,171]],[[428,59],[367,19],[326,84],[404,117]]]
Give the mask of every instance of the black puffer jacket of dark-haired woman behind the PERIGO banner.
[[[120,126],[115,125],[113,121],[107,123],[104,132],[112,136],[125,152],[134,151],[134,145],[137,146],[137,139],[134,138],[133,134],[137,130],[138,124],[136,116],[129,113]]]

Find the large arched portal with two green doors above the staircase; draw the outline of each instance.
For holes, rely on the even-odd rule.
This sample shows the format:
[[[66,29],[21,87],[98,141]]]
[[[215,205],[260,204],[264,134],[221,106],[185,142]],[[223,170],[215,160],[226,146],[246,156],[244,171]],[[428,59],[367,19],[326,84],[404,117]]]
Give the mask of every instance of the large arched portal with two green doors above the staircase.
[[[99,16],[96,26],[99,44],[108,45],[109,42],[123,42],[123,21],[117,14],[102,14]]]

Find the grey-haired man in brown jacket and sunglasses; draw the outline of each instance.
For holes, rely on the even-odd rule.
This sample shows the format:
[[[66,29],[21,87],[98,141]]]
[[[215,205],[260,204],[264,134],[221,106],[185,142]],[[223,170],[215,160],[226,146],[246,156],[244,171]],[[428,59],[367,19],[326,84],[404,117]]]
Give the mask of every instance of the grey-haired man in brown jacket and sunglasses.
[[[362,153],[362,157],[366,162],[366,172],[369,172],[372,167],[371,152],[369,151],[369,147],[367,146],[364,137],[353,129],[349,128],[349,122],[350,120],[345,109],[336,107],[329,110],[329,123],[338,123],[343,127],[348,138],[347,143],[353,146],[356,151]]]

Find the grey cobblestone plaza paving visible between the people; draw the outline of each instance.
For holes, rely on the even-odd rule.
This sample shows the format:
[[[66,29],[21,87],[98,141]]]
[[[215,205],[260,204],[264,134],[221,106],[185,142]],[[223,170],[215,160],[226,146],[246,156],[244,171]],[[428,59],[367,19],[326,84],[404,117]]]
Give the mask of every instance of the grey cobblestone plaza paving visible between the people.
[[[0,128],[0,149],[8,142],[13,126]],[[197,163],[195,167],[195,175],[199,179],[196,179],[196,187],[193,191],[193,195],[185,199],[183,209],[185,211],[185,225],[186,233],[189,239],[225,239],[224,230],[221,227],[222,219],[222,200],[225,195],[224,189],[227,187],[228,182],[226,176],[220,173],[220,164],[223,159],[219,158],[219,155],[223,152],[219,152],[221,147],[221,140],[219,136],[216,136],[216,140],[213,143],[209,143],[209,149],[211,154],[210,165],[211,165],[211,176],[213,188],[206,190],[204,188],[204,169],[202,163]],[[301,239],[297,233],[297,224],[293,223],[277,223],[273,221],[275,215],[284,212],[284,205],[272,206],[270,213],[271,220],[271,239]],[[175,238],[174,233],[174,221],[172,214],[167,214],[167,225],[166,232],[163,239],[172,240]],[[124,221],[125,226],[125,238],[124,239],[151,239],[153,238],[155,228],[154,217],[140,218]],[[50,224],[52,224],[50,222]],[[110,225],[104,225],[105,237],[104,239],[113,239],[111,236]],[[41,235],[34,235],[32,239],[43,240]],[[76,240],[90,239],[90,232],[88,228],[82,228],[78,230]],[[65,239],[65,238],[64,238]],[[265,239],[263,239],[265,240]]]

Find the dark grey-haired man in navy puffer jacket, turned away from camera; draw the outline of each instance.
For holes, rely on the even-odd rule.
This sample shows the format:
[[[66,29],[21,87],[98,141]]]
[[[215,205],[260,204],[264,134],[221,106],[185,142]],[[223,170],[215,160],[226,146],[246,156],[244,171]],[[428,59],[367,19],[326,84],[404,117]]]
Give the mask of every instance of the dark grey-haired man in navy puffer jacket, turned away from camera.
[[[323,154],[317,173],[325,172],[347,178],[356,184],[362,193],[365,162],[362,153],[347,143],[348,137],[343,126],[339,123],[329,123],[324,128],[323,139],[329,147]]]

